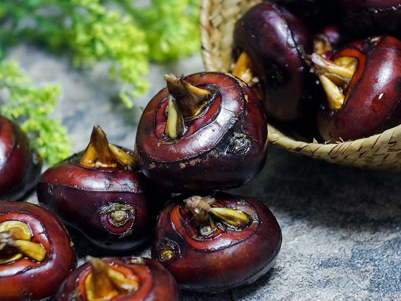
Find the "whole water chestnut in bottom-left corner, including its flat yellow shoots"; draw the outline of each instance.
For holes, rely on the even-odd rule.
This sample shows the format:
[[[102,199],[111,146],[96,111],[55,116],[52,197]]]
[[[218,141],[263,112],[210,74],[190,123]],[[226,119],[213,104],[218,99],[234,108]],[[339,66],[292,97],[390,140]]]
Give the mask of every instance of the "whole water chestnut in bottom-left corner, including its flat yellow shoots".
[[[0,200],[0,300],[39,300],[55,293],[76,267],[71,238],[52,212]]]

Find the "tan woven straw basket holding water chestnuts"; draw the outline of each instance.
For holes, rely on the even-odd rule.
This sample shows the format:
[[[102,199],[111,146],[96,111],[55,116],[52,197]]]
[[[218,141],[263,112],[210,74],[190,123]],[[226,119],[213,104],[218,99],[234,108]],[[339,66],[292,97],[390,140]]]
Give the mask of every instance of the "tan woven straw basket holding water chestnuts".
[[[235,22],[261,0],[203,0],[200,40],[206,71],[230,70]],[[367,138],[341,143],[311,143],[286,136],[268,125],[269,142],[291,153],[345,166],[401,171],[401,125]]]

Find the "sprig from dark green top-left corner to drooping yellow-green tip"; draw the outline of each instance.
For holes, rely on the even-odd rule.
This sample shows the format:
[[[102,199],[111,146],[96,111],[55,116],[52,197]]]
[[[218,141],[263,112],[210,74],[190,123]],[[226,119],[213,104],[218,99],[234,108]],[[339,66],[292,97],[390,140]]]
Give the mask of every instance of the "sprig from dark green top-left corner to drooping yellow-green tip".
[[[10,2],[0,4],[0,12]],[[123,84],[120,96],[128,107],[132,97],[149,88],[146,34],[129,15],[107,10],[96,0],[28,0],[8,5],[4,17],[11,21],[0,37],[3,52],[20,37],[40,41],[52,51],[68,50],[76,67],[110,62],[109,75]]]

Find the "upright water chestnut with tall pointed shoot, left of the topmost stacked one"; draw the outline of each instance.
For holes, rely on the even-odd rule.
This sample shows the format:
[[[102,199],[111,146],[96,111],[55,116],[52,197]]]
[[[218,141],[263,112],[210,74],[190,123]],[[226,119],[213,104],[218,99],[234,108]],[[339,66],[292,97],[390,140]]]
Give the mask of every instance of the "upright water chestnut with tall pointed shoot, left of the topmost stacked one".
[[[131,150],[111,144],[94,126],[83,152],[39,179],[38,200],[96,246],[127,251],[145,242],[169,198],[136,169]]]

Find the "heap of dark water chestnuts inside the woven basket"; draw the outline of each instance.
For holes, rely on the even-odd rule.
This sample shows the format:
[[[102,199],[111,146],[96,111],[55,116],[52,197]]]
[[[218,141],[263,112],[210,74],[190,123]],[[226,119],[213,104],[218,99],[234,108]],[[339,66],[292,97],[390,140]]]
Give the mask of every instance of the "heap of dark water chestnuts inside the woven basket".
[[[231,72],[270,124],[336,143],[401,124],[401,2],[262,1],[233,32]]]

